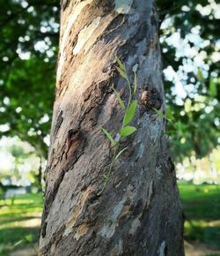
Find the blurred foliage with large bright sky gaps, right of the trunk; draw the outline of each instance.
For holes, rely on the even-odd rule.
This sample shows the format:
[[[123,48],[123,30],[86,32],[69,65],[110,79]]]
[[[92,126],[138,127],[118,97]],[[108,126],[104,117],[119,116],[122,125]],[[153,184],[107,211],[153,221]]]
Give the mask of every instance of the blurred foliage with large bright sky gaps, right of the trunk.
[[[208,0],[157,2],[162,24],[163,64],[165,70],[168,68],[176,75],[174,78],[165,77],[165,92],[173,113],[172,123],[180,126],[180,131],[176,131],[168,123],[172,153],[180,162],[192,153],[196,157],[207,155],[219,145],[220,66],[219,61],[212,58],[220,37],[219,17],[215,13],[217,1],[212,4]],[[203,8],[209,13],[201,11]],[[179,44],[187,45],[187,50],[180,49]],[[191,50],[194,54],[190,53]],[[196,58],[202,54],[202,62],[197,62]],[[179,88],[181,92],[178,92]],[[188,102],[191,106],[186,111]]]

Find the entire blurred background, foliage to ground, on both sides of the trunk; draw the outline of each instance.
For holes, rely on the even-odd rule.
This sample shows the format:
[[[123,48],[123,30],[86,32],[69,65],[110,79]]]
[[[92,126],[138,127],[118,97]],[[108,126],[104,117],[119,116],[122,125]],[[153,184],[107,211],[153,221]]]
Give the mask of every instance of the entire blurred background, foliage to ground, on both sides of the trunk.
[[[217,2],[218,1],[218,2]],[[166,118],[189,256],[220,255],[220,2],[158,0]],[[0,0],[0,255],[37,255],[58,0]]]

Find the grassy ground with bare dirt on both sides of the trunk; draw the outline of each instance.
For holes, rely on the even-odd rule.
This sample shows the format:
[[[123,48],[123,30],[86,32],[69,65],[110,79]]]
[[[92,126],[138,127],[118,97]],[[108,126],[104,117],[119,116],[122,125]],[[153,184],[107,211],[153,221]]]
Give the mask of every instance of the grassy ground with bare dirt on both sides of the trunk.
[[[187,256],[220,256],[220,186],[180,183]],[[35,256],[42,197],[0,200],[0,256]]]

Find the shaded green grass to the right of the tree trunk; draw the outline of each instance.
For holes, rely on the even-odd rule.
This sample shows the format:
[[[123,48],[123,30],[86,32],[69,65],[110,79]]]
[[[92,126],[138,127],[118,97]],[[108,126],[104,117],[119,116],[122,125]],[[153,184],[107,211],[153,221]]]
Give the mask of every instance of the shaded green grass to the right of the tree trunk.
[[[180,184],[186,215],[185,239],[220,249],[220,186]]]

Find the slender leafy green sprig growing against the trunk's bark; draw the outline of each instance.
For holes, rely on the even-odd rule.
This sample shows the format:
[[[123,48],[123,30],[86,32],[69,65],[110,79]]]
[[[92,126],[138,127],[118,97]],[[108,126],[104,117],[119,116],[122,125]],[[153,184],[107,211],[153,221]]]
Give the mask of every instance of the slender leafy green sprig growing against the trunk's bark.
[[[120,94],[113,87],[116,99],[119,102],[119,104],[121,106],[121,109],[124,110],[124,117],[123,117],[123,121],[122,121],[122,124],[121,124],[121,129],[120,129],[120,131],[116,132],[115,139],[113,139],[110,132],[107,132],[105,128],[101,127],[102,132],[104,132],[104,134],[106,135],[106,138],[111,142],[111,145],[114,149],[114,155],[113,155],[113,158],[112,158],[112,161],[111,161],[111,164],[110,164],[110,167],[108,169],[107,174],[105,173],[103,175],[103,179],[104,179],[105,182],[103,184],[102,189],[98,193],[98,196],[101,195],[101,193],[104,192],[104,190],[106,188],[106,184],[107,184],[107,182],[110,178],[112,169],[114,167],[114,162],[128,148],[128,147],[124,147],[121,150],[119,149],[121,139],[125,138],[125,137],[128,137],[128,136],[132,135],[134,132],[136,132],[136,127],[127,126],[127,124],[131,123],[134,120],[134,117],[136,115],[137,101],[134,100],[133,102],[131,102],[131,100],[132,100],[133,97],[135,97],[137,82],[136,82],[136,79],[134,79],[134,90],[133,90],[133,93],[132,93],[132,88],[131,88],[130,81],[128,79],[128,74],[126,72],[125,64],[123,64],[119,58],[116,59],[116,63],[119,65],[119,66],[116,66],[117,71],[120,73],[121,77],[126,79],[126,81],[127,81],[128,92],[129,92],[128,105],[127,105],[127,108],[126,108],[124,102],[121,100]],[[134,72],[134,74],[135,74],[135,77],[136,77],[136,72]]]

